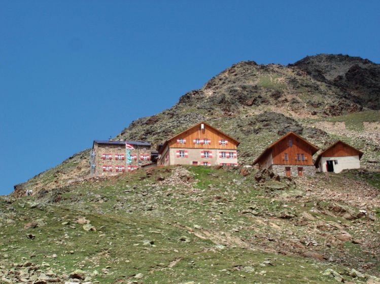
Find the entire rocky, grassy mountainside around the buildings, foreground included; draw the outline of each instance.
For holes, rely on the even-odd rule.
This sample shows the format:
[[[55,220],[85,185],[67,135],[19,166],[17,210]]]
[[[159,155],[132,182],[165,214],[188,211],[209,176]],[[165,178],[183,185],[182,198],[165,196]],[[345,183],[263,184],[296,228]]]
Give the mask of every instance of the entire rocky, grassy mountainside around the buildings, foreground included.
[[[380,284],[378,67],[342,55],[240,62],[115,138],[156,145],[205,120],[241,142],[236,168],[78,181],[84,150],[17,185],[0,196],[0,283]],[[288,131],[320,148],[350,143],[362,169],[281,178],[250,167]]]

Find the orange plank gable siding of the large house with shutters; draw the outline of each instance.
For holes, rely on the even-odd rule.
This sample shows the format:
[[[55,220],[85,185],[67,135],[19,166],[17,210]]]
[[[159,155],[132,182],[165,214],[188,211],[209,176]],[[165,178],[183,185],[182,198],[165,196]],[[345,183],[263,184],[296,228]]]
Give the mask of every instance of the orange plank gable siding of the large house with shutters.
[[[177,143],[177,139],[186,139],[186,143],[181,144]],[[193,142],[194,139],[209,139],[210,144],[195,144]],[[219,140],[228,141],[227,145],[220,145]],[[231,141],[226,135],[223,133],[208,127],[208,125],[204,126],[204,130],[200,129],[200,125],[192,127],[185,132],[183,132],[180,136],[176,136],[168,141],[168,145],[170,148],[195,148],[195,149],[226,149],[226,150],[236,150],[237,145],[234,141]]]

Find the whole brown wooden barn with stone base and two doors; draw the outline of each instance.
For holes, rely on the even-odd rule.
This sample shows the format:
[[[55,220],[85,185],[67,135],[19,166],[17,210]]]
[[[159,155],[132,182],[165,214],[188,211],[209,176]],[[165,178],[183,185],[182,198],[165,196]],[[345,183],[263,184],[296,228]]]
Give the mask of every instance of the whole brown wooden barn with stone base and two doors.
[[[288,132],[270,144],[254,161],[259,168],[267,168],[280,176],[313,176],[316,168],[313,155],[318,147],[294,132]]]

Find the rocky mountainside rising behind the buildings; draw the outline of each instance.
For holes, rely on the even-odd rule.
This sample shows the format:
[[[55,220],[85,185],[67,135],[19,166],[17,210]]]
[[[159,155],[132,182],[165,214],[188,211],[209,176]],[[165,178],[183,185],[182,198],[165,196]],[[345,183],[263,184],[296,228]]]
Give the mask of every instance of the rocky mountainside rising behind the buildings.
[[[379,64],[343,55],[310,56],[289,66],[240,62],[183,95],[175,106],[133,121],[115,139],[157,145],[205,120],[241,142],[244,164],[293,130],[320,147],[338,138],[352,143],[367,153],[365,166],[367,159],[378,158],[380,147],[379,70]],[[88,175],[88,162],[88,150],[80,152],[15,191],[64,186]]]

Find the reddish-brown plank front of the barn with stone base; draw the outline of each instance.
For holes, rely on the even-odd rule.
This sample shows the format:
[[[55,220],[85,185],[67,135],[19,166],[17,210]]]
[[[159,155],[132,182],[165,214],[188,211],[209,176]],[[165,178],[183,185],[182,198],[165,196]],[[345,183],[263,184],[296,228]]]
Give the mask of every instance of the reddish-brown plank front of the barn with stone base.
[[[292,140],[292,146],[289,146],[289,139]],[[279,141],[272,147],[273,165],[313,165],[313,150],[312,148],[296,137],[289,135],[285,139]],[[285,153],[288,154],[288,160],[285,160]],[[300,154],[300,160],[297,159],[297,154]],[[301,154],[304,154],[305,160],[302,161]]]

